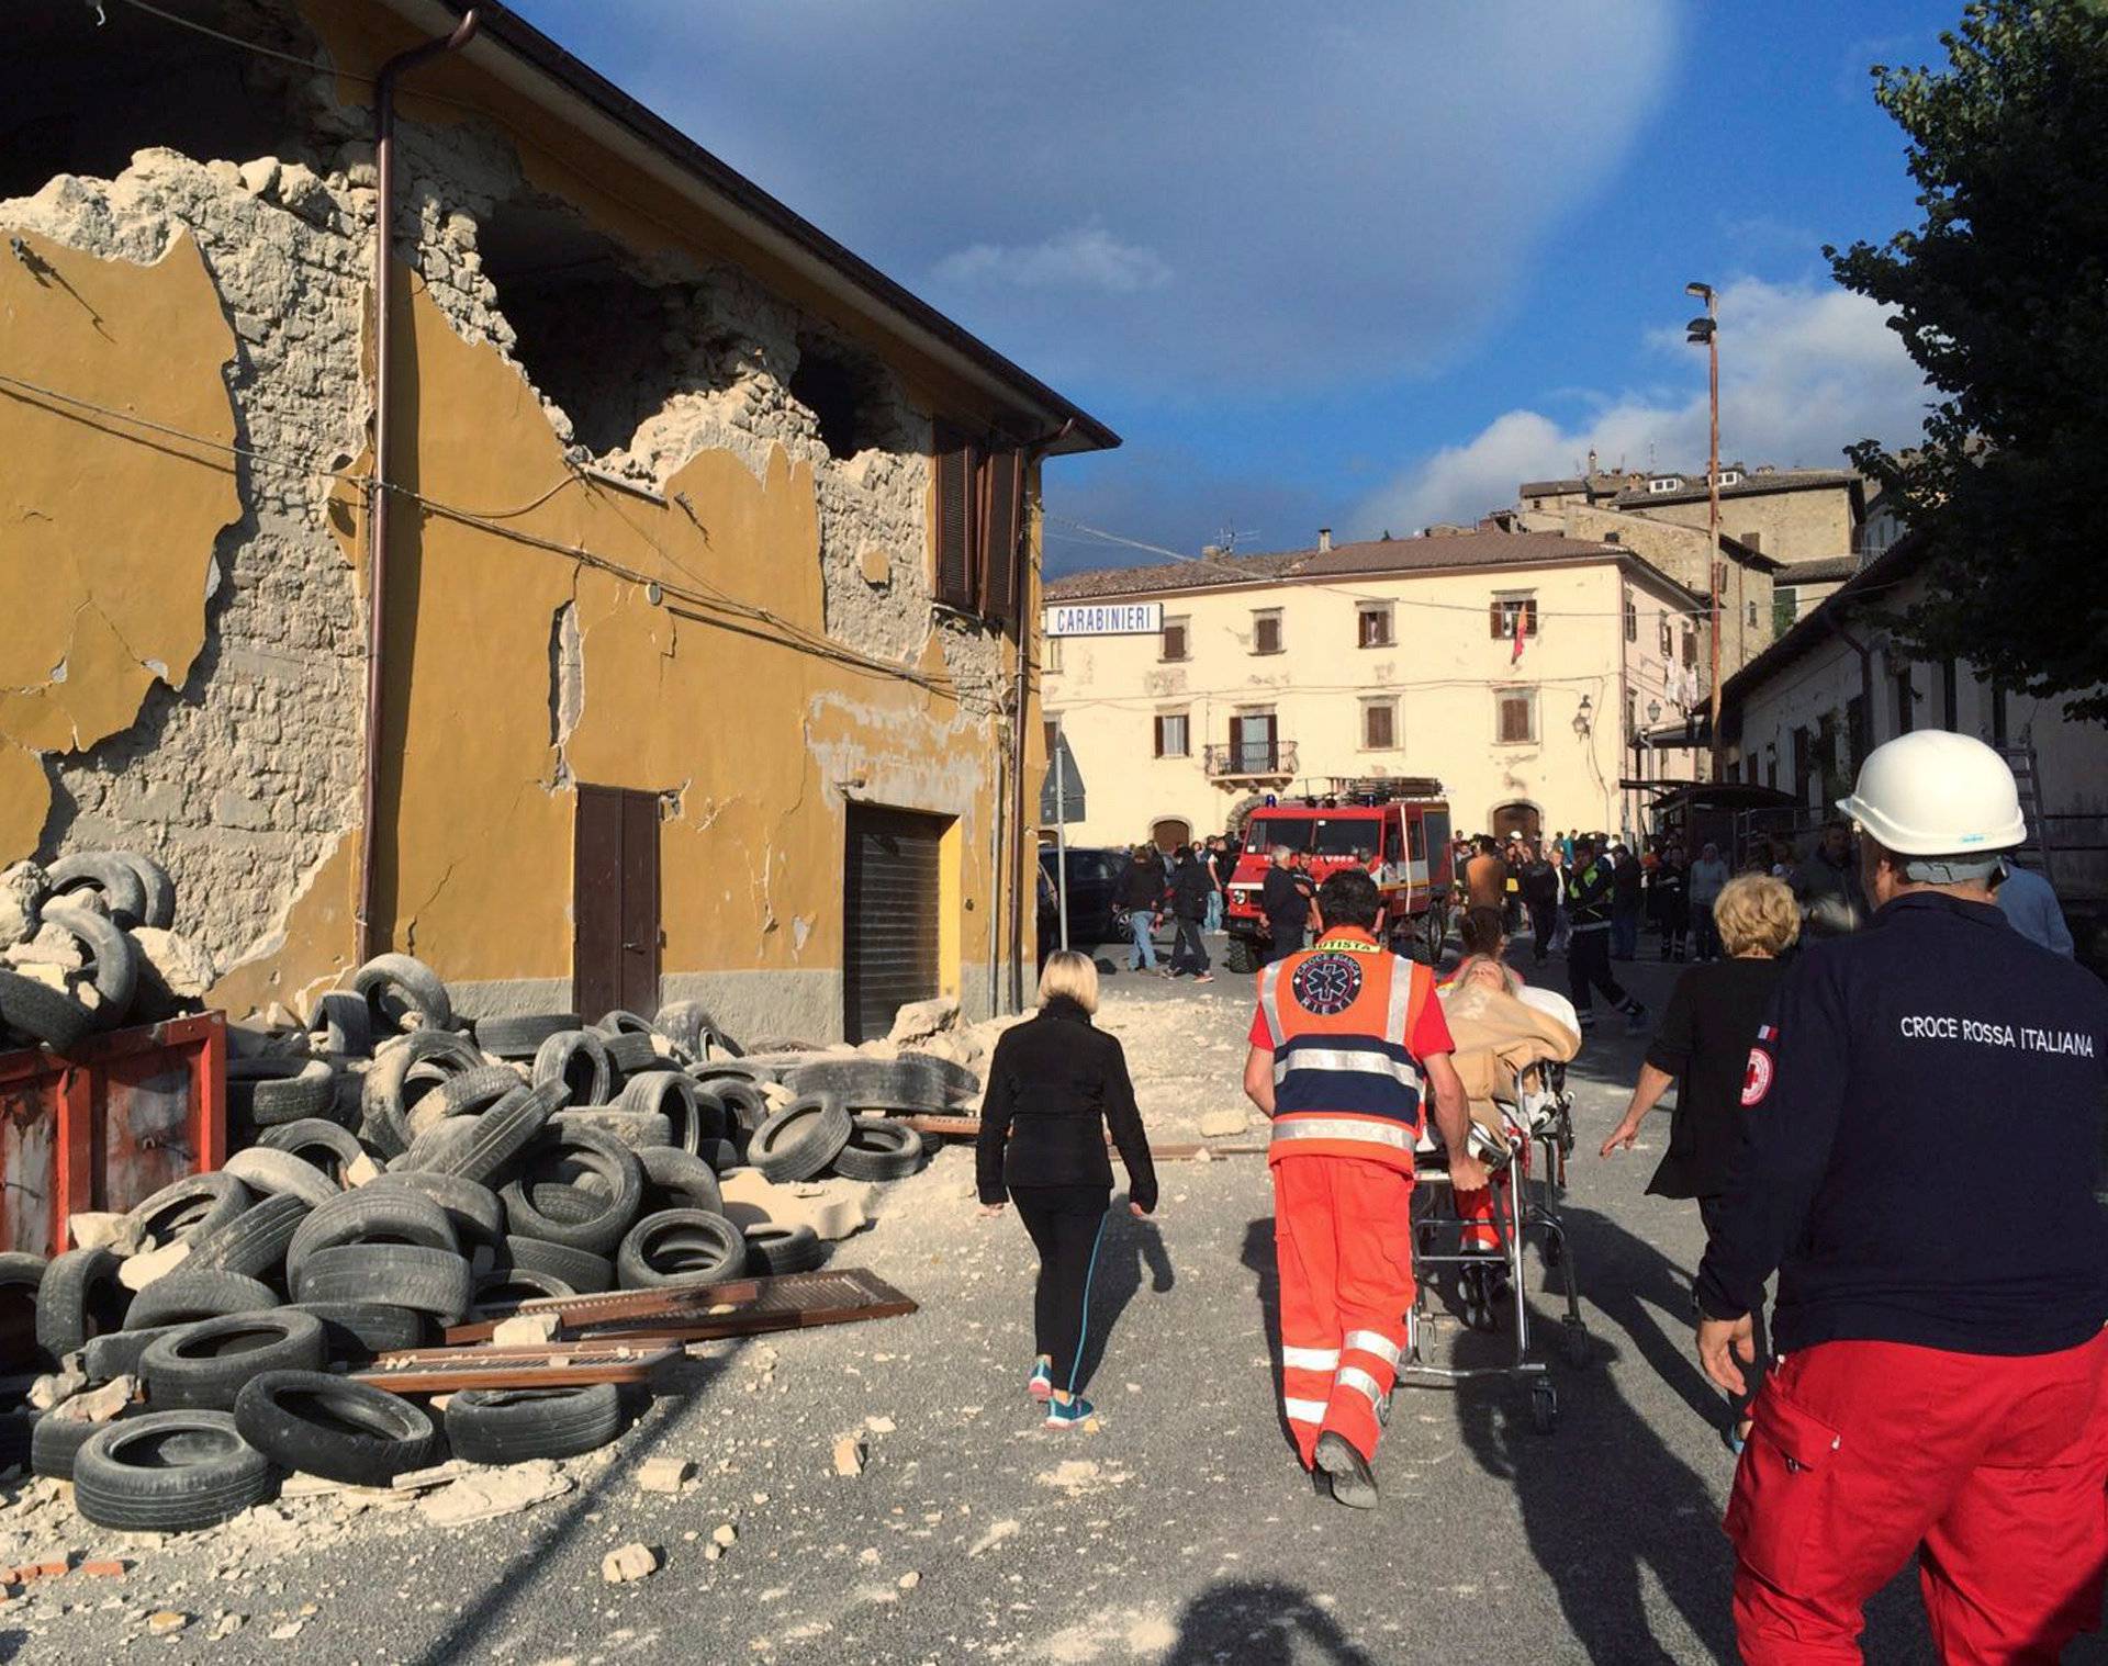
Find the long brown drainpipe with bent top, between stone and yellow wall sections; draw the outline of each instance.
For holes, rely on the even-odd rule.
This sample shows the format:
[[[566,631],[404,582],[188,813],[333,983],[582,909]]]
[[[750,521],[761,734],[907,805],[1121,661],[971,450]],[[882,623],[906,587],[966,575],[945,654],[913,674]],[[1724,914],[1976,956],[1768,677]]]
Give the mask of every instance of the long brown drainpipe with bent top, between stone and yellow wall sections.
[[[394,358],[394,91],[411,70],[457,53],[476,34],[476,11],[464,13],[453,34],[434,36],[396,53],[373,78],[373,472],[367,478],[367,754],[358,809],[358,914],[360,965],[373,958],[373,874],[379,861],[382,794],[382,689],[388,672],[388,482],[390,482],[390,362]]]

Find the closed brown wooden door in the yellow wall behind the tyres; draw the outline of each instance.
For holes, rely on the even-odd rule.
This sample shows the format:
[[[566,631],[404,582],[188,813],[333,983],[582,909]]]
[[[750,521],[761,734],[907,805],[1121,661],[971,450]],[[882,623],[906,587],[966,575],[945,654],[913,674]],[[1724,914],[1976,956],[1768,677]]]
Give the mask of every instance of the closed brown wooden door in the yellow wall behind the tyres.
[[[571,855],[571,1003],[597,1022],[658,1011],[658,794],[578,790]]]

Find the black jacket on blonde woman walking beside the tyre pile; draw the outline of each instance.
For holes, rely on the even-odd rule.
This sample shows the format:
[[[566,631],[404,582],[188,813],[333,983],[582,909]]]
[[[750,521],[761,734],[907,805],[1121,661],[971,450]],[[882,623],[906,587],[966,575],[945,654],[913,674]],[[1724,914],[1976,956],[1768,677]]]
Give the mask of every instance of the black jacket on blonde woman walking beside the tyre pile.
[[[1128,1198],[1155,1209],[1157,1169],[1134,1108],[1128,1055],[1092,1026],[1090,1013],[1056,996],[995,1043],[974,1165],[980,1201],[1001,1203],[1006,1186],[1111,1188],[1107,1127],[1128,1167]]]

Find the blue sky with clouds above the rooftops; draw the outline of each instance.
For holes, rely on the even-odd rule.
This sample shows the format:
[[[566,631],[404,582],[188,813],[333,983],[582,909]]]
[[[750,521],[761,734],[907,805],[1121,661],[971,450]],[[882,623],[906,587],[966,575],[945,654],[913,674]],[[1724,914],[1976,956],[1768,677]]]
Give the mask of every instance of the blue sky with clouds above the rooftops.
[[[1602,461],[1834,465],[1925,394],[1823,242],[1914,221],[1868,65],[1958,0],[523,0],[1128,444],[1058,571],[1400,535]]]

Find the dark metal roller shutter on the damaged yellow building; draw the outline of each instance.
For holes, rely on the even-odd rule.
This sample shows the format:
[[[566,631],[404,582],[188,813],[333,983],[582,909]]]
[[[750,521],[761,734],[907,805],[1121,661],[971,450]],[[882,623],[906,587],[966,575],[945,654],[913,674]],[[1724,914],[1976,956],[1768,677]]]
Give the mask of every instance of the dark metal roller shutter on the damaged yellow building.
[[[909,1000],[936,994],[938,840],[946,821],[850,807],[843,946],[850,1040],[883,1036]]]

